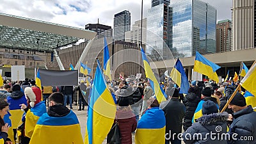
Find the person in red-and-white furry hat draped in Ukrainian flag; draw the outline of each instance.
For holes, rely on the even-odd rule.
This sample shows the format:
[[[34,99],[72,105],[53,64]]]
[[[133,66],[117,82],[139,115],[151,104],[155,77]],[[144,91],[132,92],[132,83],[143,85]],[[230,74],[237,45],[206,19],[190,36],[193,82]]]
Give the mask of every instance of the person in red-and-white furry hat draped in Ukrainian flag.
[[[20,109],[25,111],[25,113],[22,116],[23,124],[18,129],[21,130],[21,143],[28,144],[35,129],[36,122],[40,116],[46,113],[46,106],[45,102],[41,101],[42,91],[37,86],[26,87],[24,93],[28,100],[28,106],[26,103],[20,104]]]

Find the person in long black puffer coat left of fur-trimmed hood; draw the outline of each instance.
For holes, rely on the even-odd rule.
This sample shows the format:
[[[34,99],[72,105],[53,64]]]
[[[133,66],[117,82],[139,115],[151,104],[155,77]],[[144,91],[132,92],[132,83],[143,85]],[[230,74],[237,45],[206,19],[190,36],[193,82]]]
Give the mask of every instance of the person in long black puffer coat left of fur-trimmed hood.
[[[191,121],[199,102],[200,102],[200,99],[195,94],[195,87],[189,88],[188,95],[186,95],[183,100],[183,103],[186,106],[186,111],[185,111],[185,116],[183,121],[184,131],[186,131],[188,127],[192,125]]]

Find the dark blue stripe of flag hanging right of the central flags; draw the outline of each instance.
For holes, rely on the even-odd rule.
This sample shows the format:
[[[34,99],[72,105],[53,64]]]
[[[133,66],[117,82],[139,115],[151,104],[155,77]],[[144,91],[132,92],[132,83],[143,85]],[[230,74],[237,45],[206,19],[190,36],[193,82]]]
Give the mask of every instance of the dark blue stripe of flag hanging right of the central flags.
[[[188,89],[189,89],[188,77],[186,76],[186,73],[184,71],[184,68],[182,67],[182,63],[180,62],[179,58],[176,61],[174,68],[176,68],[180,72],[180,76],[181,76],[181,84],[180,84],[180,92],[179,93],[188,94]]]

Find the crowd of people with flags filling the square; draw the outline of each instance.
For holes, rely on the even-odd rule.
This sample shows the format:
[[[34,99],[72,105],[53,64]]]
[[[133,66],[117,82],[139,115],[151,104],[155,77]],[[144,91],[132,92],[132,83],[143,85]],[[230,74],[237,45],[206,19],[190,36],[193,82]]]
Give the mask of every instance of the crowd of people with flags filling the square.
[[[118,123],[122,144],[132,143],[132,133],[135,143],[141,144],[256,143],[256,113],[246,104],[246,90],[235,93],[220,113],[237,84],[189,81],[186,95],[179,93],[179,86],[170,79],[159,84],[166,93],[166,101],[160,104],[148,81],[108,81],[117,109],[113,125]],[[74,102],[79,104],[77,111],[86,109],[90,84],[81,81],[78,86],[41,89],[29,79],[23,83],[4,81],[0,89],[0,143],[83,143],[72,109]],[[212,133],[219,137],[212,138]]]

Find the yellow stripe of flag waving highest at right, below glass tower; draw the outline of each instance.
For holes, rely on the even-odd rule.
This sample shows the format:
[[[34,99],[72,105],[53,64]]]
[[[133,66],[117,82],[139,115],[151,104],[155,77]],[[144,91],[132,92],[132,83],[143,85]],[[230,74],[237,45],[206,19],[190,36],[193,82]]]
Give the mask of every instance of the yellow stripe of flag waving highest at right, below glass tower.
[[[216,72],[213,72],[212,67],[209,65],[205,65],[201,61],[195,61],[194,72],[199,72],[200,74],[204,74],[208,76],[210,79],[219,83],[218,75]]]

